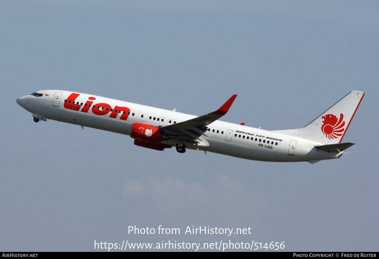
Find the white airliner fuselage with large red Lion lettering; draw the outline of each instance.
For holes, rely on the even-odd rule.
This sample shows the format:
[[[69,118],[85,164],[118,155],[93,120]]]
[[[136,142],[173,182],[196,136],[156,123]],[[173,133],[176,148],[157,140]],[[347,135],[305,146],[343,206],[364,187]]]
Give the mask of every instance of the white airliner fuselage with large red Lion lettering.
[[[34,115],[125,135],[131,134],[133,123],[163,127],[197,117],[83,93],[61,90],[44,90],[38,93],[42,93],[42,96],[23,96],[17,99],[17,103]],[[77,95],[75,99],[72,94]],[[76,108],[70,107],[72,104],[67,103],[69,97],[74,100]],[[72,103],[72,100],[70,101]],[[94,111],[97,114],[88,107],[89,104],[91,107],[96,105]],[[208,136],[201,136],[205,141],[198,145],[186,144],[188,149],[205,150],[250,160],[279,162],[318,161],[338,158],[343,153],[318,150],[315,146],[321,143],[304,138],[224,121],[214,121],[207,127]],[[163,143],[175,146],[178,141],[168,140]]]

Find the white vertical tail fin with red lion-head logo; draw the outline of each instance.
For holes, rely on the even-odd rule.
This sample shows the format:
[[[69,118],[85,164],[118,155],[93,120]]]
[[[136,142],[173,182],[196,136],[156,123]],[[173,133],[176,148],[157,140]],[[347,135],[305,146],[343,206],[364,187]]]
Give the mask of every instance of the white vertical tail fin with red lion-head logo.
[[[323,144],[341,143],[365,93],[352,91],[302,129],[276,132]]]

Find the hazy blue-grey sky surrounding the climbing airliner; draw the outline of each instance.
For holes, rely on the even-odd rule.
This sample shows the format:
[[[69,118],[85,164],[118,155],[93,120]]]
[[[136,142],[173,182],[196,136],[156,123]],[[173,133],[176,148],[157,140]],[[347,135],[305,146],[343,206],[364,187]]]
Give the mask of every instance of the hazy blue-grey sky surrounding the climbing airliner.
[[[1,2],[0,250],[224,239],[377,251],[378,13],[375,1]],[[34,123],[16,98],[45,89],[194,115],[237,94],[223,120],[267,130],[303,127],[351,90],[366,95],[344,136],[356,155],[310,164],[158,152]],[[181,234],[128,234],[134,225]]]

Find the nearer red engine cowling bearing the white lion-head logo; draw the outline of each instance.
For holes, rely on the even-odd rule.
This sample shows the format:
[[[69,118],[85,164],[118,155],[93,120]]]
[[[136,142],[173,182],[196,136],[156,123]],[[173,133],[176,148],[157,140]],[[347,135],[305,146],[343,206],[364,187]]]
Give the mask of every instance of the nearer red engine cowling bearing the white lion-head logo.
[[[168,135],[165,134],[163,130],[143,123],[133,123],[130,136],[136,140],[151,143],[161,143],[161,141],[168,140]]]

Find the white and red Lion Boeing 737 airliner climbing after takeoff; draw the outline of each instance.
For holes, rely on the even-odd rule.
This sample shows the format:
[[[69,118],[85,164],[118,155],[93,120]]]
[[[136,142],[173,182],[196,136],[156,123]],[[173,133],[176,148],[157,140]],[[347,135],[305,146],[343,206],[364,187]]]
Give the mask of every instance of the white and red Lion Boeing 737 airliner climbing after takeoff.
[[[43,90],[17,99],[35,122],[52,119],[130,135],[154,150],[175,147],[273,162],[339,158],[354,143],[341,143],[365,93],[352,91],[301,129],[268,131],[218,119],[237,95],[203,116],[164,110],[84,93]],[[83,128],[84,129],[84,128]]]

